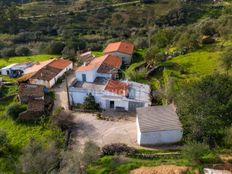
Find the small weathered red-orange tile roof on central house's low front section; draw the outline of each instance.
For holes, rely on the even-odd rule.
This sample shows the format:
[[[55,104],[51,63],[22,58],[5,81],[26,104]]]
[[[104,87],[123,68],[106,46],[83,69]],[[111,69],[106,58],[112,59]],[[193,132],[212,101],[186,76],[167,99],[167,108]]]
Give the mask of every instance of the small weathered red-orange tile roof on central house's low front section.
[[[118,95],[126,96],[128,94],[128,86],[129,85],[127,83],[121,81],[109,80],[105,90]]]

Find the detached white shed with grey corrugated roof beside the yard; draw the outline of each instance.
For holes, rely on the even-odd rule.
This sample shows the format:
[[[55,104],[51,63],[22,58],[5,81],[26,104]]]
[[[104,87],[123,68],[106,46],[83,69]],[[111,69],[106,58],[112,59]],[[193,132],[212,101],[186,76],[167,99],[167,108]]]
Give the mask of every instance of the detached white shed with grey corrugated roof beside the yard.
[[[183,136],[173,105],[137,108],[136,124],[139,145],[177,143]]]

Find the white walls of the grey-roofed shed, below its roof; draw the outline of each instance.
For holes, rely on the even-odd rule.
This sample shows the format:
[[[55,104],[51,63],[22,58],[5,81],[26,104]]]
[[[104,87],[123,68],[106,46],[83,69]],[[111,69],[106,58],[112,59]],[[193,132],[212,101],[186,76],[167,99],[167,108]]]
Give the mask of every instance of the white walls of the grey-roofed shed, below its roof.
[[[168,130],[157,132],[140,131],[137,124],[137,142],[139,145],[159,145],[159,144],[172,144],[177,143],[182,139],[182,130]]]

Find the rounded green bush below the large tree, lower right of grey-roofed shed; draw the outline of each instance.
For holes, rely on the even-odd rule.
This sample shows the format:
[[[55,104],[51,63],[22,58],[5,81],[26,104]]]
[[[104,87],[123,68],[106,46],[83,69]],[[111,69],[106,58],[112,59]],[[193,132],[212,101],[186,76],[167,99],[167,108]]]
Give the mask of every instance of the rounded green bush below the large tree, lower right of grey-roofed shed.
[[[209,146],[204,143],[189,142],[182,148],[183,157],[190,161],[200,161],[209,153]]]

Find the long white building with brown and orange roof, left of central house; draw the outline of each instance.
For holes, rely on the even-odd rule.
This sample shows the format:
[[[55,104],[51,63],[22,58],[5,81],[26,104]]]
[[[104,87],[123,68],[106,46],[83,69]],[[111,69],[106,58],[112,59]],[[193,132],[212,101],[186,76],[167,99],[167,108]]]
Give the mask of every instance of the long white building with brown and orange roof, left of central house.
[[[52,88],[57,80],[62,77],[65,72],[73,69],[73,63],[69,60],[56,59],[36,72],[29,82],[34,85],[42,85]]]

